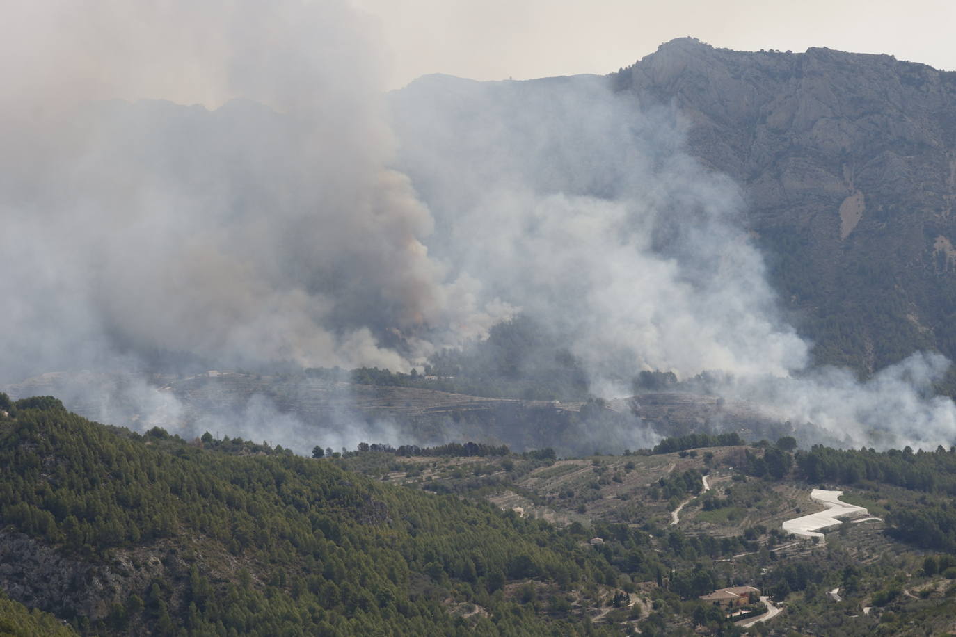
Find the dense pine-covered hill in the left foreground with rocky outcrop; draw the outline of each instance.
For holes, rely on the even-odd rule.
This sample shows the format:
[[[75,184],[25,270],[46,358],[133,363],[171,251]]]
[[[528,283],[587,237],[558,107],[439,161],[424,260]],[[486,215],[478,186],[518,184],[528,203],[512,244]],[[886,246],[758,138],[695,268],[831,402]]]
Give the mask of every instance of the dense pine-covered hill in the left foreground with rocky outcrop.
[[[18,568],[0,587],[81,633],[577,634],[618,584],[586,543],[487,503],[106,428],[50,397],[9,412],[0,551]]]

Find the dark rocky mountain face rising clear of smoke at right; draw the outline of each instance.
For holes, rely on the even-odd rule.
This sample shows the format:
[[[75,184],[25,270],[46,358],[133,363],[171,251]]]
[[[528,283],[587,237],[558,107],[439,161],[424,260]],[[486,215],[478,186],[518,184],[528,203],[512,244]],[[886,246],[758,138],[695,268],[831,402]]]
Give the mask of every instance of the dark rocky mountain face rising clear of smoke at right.
[[[818,362],[872,371],[919,348],[956,354],[956,73],[682,38],[612,81],[673,104],[690,152],[743,187]]]

